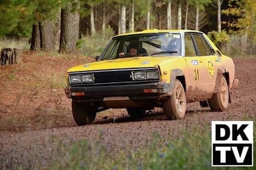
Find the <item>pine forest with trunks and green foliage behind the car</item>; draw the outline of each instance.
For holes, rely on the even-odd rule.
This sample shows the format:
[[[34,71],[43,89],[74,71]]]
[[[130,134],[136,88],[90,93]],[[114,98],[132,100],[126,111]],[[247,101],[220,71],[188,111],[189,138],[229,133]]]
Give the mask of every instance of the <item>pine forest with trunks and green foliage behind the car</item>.
[[[0,48],[94,56],[111,36],[143,29],[195,29],[229,55],[255,54],[256,0],[0,1]]]

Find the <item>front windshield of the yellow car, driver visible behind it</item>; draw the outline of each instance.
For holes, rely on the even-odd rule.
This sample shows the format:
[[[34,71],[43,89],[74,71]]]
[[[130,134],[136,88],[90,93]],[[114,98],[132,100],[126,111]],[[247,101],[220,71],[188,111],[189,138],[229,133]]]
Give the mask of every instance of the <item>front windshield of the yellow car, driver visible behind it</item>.
[[[100,60],[140,56],[180,56],[180,33],[148,33],[114,37]]]

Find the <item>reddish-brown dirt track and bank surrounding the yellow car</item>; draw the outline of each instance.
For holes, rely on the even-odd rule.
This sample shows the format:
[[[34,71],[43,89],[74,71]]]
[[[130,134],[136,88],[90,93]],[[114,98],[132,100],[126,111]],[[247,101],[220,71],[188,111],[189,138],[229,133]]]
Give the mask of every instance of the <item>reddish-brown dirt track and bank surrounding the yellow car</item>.
[[[162,109],[138,120],[124,109],[109,109],[98,113],[93,125],[77,127],[63,90],[65,73],[70,66],[90,61],[82,56],[23,52],[22,64],[0,66],[0,167],[13,157],[17,162],[30,160],[32,148],[40,148],[40,157],[47,160],[57,139],[67,143],[100,139],[109,150],[127,145],[140,148],[153,132],[175,137],[184,127],[211,125],[212,120],[255,118],[256,56],[234,58],[239,87],[232,90],[232,104],[225,112],[211,112],[193,103],[188,104],[183,120],[169,121]]]

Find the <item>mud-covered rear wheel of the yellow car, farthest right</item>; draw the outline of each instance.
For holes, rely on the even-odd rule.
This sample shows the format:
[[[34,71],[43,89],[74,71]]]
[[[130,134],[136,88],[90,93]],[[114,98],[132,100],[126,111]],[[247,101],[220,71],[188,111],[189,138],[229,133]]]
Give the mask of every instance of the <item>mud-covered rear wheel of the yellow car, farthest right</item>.
[[[227,80],[224,76],[221,77],[220,86],[217,92],[213,94],[212,98],[208,100],[212,111],[226,111],[228,108],[229,91]]]

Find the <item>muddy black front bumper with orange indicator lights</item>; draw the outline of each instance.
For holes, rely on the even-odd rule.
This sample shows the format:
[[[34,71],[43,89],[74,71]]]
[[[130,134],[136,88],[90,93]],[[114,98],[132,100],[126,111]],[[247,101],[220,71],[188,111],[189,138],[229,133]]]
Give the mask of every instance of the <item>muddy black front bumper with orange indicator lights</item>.
[[[86,102],[102,101],[106,97],[129,97],[130,99],[163,98],[172,95],[170,84],[150,82],[115,86],[68,86],[67,98],[83,99]]]

